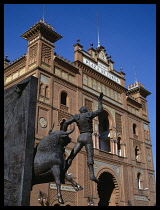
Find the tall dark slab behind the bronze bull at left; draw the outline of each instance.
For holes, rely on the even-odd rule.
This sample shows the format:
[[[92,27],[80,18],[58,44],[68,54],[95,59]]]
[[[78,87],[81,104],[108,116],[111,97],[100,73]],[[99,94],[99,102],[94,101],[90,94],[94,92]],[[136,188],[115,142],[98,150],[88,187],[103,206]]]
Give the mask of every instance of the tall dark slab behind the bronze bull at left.
[[[4,90],[4,205],[29,206],[38,79]]]

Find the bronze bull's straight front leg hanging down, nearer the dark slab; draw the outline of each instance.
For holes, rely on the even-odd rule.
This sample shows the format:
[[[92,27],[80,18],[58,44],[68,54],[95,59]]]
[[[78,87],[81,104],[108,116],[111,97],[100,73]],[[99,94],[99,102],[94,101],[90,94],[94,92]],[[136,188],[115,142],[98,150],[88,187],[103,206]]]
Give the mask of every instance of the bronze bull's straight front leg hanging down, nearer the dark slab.
[[[57,186],[58,202],[64,204],[61,194],[60,167],[58,165],[54,165],[51,170]]]

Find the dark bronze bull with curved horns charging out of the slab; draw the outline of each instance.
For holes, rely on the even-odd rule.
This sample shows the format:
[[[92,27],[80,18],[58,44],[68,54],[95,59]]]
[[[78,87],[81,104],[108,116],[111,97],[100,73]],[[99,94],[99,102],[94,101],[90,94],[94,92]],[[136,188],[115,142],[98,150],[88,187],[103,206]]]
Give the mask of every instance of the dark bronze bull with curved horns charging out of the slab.
[[[75,126],[70,131],[52,132],[53,127],[54,125],[49,130],[49,135],[45,136],[36,148],[33,161],[32,186],[55,181],[58,202],[64,204],[61,184],[65,183],[65,179],[71,182],[77,191],[83,189],[72,179],[70,174],[65,173],[65,146],[71,142],[68,135],[74,131]]]

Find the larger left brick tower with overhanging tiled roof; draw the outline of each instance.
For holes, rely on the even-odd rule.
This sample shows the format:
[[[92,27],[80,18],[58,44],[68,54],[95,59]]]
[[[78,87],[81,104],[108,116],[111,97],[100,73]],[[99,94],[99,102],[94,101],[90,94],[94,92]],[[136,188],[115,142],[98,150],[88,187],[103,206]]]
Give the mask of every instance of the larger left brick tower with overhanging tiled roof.
[[[21,35],[28,41],[27,69],[35,67],[51,71],[53,68],[54,43],[62,38],[50,24],[40,20]]]

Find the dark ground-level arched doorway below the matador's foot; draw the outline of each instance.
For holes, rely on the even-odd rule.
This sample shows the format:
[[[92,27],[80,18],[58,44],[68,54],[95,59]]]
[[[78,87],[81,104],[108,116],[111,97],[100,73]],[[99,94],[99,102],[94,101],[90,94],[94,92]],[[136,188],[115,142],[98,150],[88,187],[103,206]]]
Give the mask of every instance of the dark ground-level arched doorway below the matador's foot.
[[[99,184],[97,185],[98,206],[116,206],[116,187],[114,182],[115,178],[109,172],[103,172],[99,176]]]

